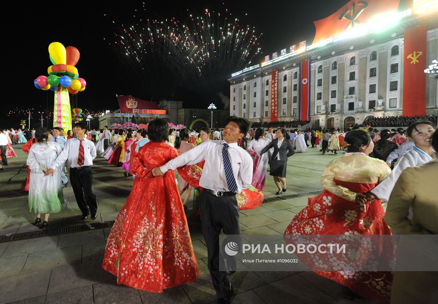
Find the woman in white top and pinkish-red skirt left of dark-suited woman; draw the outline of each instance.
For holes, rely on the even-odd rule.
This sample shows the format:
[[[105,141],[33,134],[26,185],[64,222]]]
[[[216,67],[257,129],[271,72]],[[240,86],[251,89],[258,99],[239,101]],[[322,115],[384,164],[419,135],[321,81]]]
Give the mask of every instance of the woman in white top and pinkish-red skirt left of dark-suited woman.
[[[254,170],[252,173],[251,185],[260,191],[265,189],[266,170],[268,169],[269,161],[268,153],[260,156],[260,151],[271,142],[269,138],[261,137],[263,133],[263,129],[258,128],[255,131],[254,139],[247,145],[247,151],[254,157]]]

